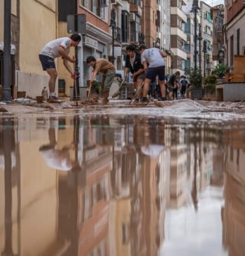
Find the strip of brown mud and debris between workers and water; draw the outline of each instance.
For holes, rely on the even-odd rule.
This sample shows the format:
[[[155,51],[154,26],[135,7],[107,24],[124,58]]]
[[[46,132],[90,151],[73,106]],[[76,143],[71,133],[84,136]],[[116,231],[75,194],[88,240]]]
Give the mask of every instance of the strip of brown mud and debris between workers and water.
[[[174,100],[167,102],[149,102],[147,106],[144,107],[171,107],[174,105],[179,105],[182,102],[184,105],[199,106],[203,107],[205,112],[233,112],[237,114],[245,114],[245,102],[218,102],[210,100]],[[131,104],[130,104],[131,103]],[[37,103],[35,100],[29,100],[26,102],[17,102],[13,101],[10,103],[0,102],[0,116],[5,115],[19,115],[19,114],[38,114],[41,112],[74,112],[77,109],[81,108],[93,108],[93,107],[105,107],[105,108],[135,108],[139,107],[134,105],[130,100],[109,100],[109,104],[103,105],[98,100],[64,100],[62,103]]]

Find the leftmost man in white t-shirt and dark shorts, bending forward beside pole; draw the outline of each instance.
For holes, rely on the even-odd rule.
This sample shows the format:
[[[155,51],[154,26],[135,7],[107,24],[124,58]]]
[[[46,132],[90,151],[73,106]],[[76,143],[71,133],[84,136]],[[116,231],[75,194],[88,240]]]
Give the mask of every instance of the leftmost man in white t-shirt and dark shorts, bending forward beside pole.
[[[47,43],[39,54],[39,60],[41,61],[41,65],[43,70],[46,70],[50,76],[50,80],[48,82],[49,88],[49,102],[60,102],[55,95],[55,82],[57,79],[57,70],[55,67],[55,58],[62,57],[64,67],[71,73],[71,77],[76,79],[76,73],[69,65],[69,62],[74,63],[75,59],[69,56],[70,47],[78,46],[80,42],[79,34],[72,34],[69,37],[62,37],[59,39],[55,39]]]

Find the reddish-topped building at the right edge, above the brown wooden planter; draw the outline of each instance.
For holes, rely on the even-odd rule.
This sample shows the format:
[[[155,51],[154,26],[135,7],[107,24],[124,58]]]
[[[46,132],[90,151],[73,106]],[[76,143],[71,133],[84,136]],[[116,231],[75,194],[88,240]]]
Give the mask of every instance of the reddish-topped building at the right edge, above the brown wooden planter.
[[[243,0],[225,0],[225,58],[228,67],[234,64],[234,55],[244,55],[245,3]]]

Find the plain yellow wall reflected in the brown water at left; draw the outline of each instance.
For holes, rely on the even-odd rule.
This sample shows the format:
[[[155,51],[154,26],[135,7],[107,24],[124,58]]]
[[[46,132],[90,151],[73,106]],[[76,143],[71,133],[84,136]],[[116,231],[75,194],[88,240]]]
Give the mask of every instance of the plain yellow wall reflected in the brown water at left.
[[[36,125],[33,119],[18,130],[20,150],[20,191],[18,184],[12,189],[12,201],[5,202],[4,170],[0,169],[0,252],[5,246],[5,204],[11,203],[13,220],[13,250],[18,252],[18,238],[22,243],[20,255],[46,255],[52,243],[57,243],[57,171],[50,168],[39,148],[48,144],[48,130],[27,130]],[[48,125],[48,124],[47,124]],[[63,136],[62,145],[71,144],[73,137]],[[62,145],[60,147],[62,147]],[[59,144],[57,145],[59,146]],[[17,156],[16,156],[17,157]],[[38,164],[36,164],[38,163]],[[20,194],[19,194],[20,193]],[[18,204],[20,196],[20,205]],[[20,206],[20,233],[18,233],[18,206]]]

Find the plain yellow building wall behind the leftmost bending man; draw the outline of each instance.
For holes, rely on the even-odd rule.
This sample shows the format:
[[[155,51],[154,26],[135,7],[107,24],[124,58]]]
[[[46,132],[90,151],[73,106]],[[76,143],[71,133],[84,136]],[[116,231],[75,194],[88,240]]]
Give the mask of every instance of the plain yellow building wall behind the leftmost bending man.
[[[46,4],[46,6],[45,6]],[[45,43],[57,38],[55,0],[20,1],[20,71],[46,74],[38,54]]]

